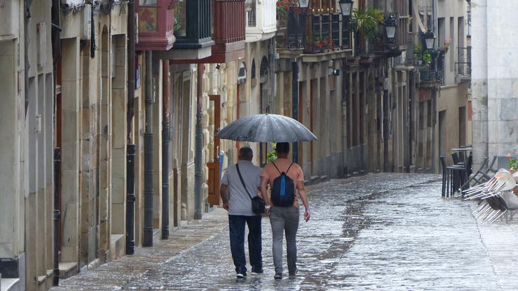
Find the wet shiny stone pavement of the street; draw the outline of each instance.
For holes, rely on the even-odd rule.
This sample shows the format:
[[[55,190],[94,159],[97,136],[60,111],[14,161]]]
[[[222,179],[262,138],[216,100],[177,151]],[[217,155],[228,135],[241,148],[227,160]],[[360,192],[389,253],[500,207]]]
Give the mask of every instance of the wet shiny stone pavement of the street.
[[[440,198],[438,175],[369,174],[309,193],[295,278],[285,267],[273,280],[264,218],[264,274],[236,280],[226,213],[216,209],[53,290],[518,290],[518,222],[477,225],[472,203]]]

